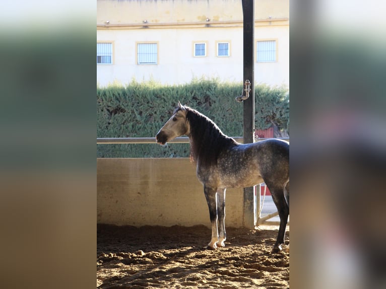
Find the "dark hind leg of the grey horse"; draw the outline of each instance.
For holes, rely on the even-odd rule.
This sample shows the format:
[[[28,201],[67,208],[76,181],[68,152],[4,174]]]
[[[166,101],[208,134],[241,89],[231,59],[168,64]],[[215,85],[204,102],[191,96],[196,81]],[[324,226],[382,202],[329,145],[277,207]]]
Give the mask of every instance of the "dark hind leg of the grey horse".
[[[268,186],[268,188],[270,187]],[[284,244],[284,235],[288,222],[289,206],[284,197],[283,188],[274,188],[273,190],[270,188],[270,191],[280,217],[279,233],[272,252],[279,252],[282,250],[281,245]]]

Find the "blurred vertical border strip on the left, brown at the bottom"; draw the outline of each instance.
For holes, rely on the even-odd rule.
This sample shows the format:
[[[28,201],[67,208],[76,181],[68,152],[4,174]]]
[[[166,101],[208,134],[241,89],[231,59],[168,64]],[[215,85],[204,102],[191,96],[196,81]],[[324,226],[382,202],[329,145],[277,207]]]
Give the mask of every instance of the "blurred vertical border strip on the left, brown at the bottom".
[[[95,19],[95,1],[2,4],[2,287],[95,286]]]

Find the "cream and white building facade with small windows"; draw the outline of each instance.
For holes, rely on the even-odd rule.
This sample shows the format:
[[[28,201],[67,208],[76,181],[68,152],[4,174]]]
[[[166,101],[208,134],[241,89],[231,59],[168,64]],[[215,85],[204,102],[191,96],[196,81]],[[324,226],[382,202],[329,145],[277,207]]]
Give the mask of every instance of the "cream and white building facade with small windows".
[[[289,88],[289,0],[254,3],[254,83]],[[242,82],[241,0],[97,0],[97,84]]]

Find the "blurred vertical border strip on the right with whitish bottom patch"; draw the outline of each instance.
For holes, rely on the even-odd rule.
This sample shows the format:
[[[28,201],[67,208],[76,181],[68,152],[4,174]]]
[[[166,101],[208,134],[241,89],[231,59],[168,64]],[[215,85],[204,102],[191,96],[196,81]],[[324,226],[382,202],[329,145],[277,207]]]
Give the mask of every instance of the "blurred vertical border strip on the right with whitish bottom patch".
[[[293,288],[386,284],[382,6],[291,2]]]

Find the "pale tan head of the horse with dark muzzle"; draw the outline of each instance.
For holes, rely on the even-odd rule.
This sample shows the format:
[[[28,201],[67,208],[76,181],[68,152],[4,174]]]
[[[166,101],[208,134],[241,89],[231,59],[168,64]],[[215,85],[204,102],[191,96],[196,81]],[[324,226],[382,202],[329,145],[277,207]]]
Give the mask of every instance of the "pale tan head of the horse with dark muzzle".
[[[157,143],[163,145],[177,136],[189,135],[190,125],[186,119],[186,113],[186,108],[178,102],[178,107],[174,110],[173,115],[158,131],[156,135]]]

